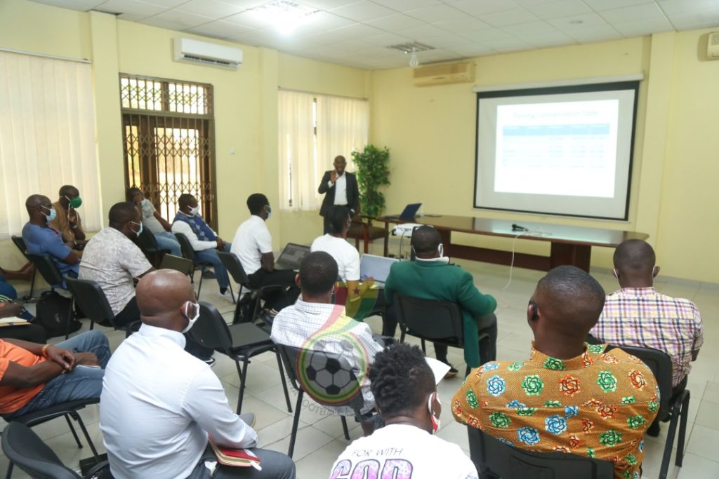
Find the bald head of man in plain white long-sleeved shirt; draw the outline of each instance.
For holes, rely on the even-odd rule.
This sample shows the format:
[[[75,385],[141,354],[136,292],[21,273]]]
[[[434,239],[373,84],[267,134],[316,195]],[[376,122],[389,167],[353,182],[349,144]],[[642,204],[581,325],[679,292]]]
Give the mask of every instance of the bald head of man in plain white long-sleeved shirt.
[[[181,331],[187,325],[186,302],[195,302],[190,279],[172,269],[158,269],[142,276],[135,289],[142,322]]]

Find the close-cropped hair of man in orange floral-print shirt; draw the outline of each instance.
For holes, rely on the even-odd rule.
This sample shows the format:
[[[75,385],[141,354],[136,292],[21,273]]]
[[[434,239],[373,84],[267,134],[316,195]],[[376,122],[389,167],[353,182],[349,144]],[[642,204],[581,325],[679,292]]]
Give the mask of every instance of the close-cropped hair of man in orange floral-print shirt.
[[[586,330],[599,320],[606,293],[596,279],[577,266],[557,266],[537,283],[537,292],[549,303],[554,320],[567,330]],[[581,332],[581,331],[580,331]]]

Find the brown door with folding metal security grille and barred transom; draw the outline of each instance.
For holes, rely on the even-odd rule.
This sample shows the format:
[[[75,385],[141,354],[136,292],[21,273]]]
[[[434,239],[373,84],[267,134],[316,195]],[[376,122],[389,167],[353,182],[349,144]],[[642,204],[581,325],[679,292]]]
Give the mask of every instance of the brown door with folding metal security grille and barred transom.
[[[120,75],[125,184],[170,220],[183,193],[217,228],[212,85]]]

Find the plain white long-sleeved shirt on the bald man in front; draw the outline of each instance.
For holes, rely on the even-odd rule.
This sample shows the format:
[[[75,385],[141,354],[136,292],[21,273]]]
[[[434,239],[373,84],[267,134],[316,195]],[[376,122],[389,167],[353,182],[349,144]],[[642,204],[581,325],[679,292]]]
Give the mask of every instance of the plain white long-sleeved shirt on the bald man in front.
[[[100,429],[115,478],[186,478],[208,434],[227,447],[256,445],[219,378],[184,347],[180,332],[144,324],[110,358]]]

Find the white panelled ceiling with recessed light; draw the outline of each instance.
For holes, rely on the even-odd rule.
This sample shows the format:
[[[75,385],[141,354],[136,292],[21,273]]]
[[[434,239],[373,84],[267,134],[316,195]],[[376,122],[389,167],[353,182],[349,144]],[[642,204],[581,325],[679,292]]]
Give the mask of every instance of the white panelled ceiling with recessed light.
[[[35,0],[377,70],[408,65],[389,45],[421,42],[421,64],[719,27],[719,0],[296,0],[321,10],[293,34],[249,9],[268,0]]]

